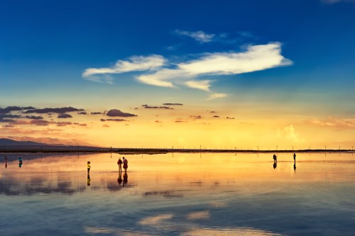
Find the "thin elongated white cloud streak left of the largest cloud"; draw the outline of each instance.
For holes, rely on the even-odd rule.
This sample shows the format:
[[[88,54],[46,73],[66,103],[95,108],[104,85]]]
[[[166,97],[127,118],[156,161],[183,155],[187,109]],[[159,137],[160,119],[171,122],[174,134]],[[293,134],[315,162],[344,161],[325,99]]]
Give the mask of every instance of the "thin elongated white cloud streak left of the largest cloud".
[[[107,68],[88,68],[82,73],[85,79],[94,74],[119,74],[124,72],[154,70],[162,67],[165,59],[160,55],[151,55],[148,57],[133,56],[129,60],[118,60],[113,67]]]

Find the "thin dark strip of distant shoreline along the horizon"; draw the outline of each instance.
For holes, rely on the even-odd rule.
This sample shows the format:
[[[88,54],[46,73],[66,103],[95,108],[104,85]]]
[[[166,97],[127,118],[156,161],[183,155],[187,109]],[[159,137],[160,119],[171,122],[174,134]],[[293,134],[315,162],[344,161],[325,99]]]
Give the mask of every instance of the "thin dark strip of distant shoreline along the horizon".
[[[298,153],[354,153],[354,150],[217,150],[217,149],[157,149],[157,148],[82,148],[82,147],[50,147],[43,149],[16,149],[13,147],[1,147],[0,153],[117,153],[117,154],[165,154],[172,152],[182,153],[285,153],[285,152],[298,152]]]

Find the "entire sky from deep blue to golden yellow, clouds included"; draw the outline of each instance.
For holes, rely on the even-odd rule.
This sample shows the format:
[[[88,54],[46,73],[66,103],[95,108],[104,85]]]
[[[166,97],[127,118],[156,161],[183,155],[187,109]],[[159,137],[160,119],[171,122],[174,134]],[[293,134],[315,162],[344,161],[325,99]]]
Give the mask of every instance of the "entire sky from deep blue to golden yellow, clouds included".
[[[0,137],[351,149],[354,12],[351,0],[1,1]]]

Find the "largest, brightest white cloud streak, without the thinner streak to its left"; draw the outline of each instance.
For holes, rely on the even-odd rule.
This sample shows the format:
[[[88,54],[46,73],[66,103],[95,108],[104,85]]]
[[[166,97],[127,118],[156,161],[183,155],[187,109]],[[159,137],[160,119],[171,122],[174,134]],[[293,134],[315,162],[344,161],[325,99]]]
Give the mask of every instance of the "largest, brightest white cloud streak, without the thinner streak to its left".
[[[173,86],[200,76],[241,74],[293,64],[280,52],[280,43],[269,43],[249,46],[245,52],[206,53],[196,60],[178,63],[174,69],[160,69],[137,79],[156,86]]]

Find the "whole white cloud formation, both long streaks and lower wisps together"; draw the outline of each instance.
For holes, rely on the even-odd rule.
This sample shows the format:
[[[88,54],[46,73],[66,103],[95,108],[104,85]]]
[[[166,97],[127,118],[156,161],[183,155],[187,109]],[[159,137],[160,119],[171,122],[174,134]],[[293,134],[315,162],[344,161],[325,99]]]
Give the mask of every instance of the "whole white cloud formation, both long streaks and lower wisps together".
[[[82,76],[89,79],[93,74],[148,71],[139,74],[136,79],[153,86],[187,86],[200,89],[210,93],[209,99],[217,99],[225,97],[226,94],[211,91],[210,86],[214,80],[206,77],[256,72],[293,64],[281,55],[281,44],[278,42],[250,45],[243,52],[209,52],[185,62],[167,62],[168,60],[160,55],[135,56],[130,57],[128,61],[119,60],[114,67],[86,69]],[[204,79],[201,79],[202,77]]]

